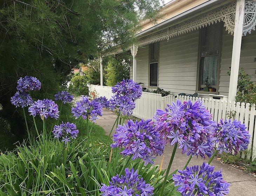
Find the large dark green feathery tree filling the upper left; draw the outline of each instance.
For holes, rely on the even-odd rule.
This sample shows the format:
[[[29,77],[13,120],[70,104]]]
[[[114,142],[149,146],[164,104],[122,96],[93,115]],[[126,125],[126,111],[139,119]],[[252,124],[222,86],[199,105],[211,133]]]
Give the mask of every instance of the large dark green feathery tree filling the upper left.
[[[139,21],[153,18],[160,4],[159,0],[0,1],[0,118],[8,122],[10,133],[17,140],[26,135],[23,117],[9,101],[19,77],[38,78],[43,88],[34,97],[49,98],[67,84],[80,62],[97,58],[111,45],[130,46]]]

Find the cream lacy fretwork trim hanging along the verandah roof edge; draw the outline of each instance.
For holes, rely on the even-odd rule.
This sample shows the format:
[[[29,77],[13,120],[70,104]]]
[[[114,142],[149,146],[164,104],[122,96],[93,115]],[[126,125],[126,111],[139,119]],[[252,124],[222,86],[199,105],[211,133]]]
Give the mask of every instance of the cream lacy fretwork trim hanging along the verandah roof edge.
[[[189,33],[191,31],[201,29],[203,27],[212,25],[217,22],[224,22],[224,27],[231,35],[234,34],[235,28],[235,15],[236,15],[236,1],[227,5],[220,6],[209,12],[195,16],[189,20],[183,21],[176,25],[170,26],[156,33],[144,36],[139,39],[136,45],[138,47],[155,43],[162,40],[169,40],[171,37]],[[244,5],[244,22],[243,22],[243,36],[255,30],[256,26],[256,1],[246,0]],[[130,50],[133,54],[133,47],[129,47],[124,51]],[[122,49],[115,50],[112,54],[123,52]],[[136,52],[137,53],[137,52]],[[136,55],[135,55],[136,56]]]

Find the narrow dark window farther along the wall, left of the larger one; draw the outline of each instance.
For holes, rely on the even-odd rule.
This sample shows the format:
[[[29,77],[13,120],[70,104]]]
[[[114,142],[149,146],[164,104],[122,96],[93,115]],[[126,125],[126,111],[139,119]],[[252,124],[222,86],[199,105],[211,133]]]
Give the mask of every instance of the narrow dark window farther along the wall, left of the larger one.
[[[157,86],[159,42],[149,45],[149,86]]]

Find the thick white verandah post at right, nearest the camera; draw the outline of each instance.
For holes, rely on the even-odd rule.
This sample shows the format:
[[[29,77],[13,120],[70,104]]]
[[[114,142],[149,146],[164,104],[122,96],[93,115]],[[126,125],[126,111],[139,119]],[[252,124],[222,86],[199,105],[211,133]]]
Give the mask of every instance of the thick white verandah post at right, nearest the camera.
[[[235,101],[237,91],[237,79],[240,63],[241,41],[243,32],[243,20],[244,20],[244,3],[245,0],[236,1],[236,16],[235,16],[235,28],[234,28],[234,41],[231,60],[231,71],[229,81],[228,100]]]

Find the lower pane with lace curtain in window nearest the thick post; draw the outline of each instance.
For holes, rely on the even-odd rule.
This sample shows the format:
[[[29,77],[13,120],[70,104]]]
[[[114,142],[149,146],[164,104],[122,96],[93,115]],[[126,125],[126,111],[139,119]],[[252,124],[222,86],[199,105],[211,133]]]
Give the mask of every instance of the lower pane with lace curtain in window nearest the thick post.
[[[210,85],[217,85],[217,64],[218,55],[207,56],[202,58],[202,80],[201,84],[204,85],[206,77],[209,77]]]

